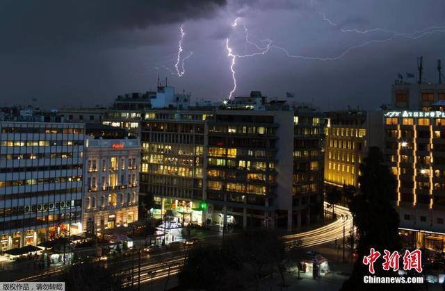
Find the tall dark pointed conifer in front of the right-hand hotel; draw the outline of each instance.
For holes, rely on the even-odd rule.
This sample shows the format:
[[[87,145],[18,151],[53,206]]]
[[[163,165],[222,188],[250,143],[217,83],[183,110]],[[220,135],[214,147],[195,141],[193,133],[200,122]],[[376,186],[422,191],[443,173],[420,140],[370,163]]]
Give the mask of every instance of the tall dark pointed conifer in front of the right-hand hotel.
[[[375,290],[372,284],[364,284],[363,277],[368,276],[368,266],[362,263],[364,256],[369,256],[371,248],[383,253],[383,250],[400,251],[401,240],[398,235],[399,218],[393,207],[396,199],[396,180],[384,164],[382,152],[371,147],[364,163],[359,166],[359,192],[350,203],[357,226],[359,259],[354,265],[350,278],[343,283],[342,291]],[[380,258],[381,260],[382,258]],[[374,264],[375,276],[398,276],[395,272],[382,269],[382,261]],[[402,286],[403,285],[403,286]],[[379,285],[379,290],[407,290],[407,284]]]

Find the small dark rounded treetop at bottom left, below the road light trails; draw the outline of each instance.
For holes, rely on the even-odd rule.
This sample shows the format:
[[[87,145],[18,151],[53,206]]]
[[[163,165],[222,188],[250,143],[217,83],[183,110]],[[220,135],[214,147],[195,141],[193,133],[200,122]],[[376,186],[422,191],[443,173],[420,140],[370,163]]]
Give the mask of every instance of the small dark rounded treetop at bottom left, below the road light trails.
[[[63,274],[63,281],[67,291],[122,290],[122,278],[118,276],[118,269],[110,264],[86,262],[71,265]]]

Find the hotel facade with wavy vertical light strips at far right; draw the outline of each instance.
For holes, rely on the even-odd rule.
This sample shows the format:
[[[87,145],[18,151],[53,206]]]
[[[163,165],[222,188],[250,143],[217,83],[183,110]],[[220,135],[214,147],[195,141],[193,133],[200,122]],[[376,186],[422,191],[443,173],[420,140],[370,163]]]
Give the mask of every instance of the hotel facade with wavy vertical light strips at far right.
[[[398,182],[396,209],[409,247],[444,250],[445,113],[385,113],[387,162]]]

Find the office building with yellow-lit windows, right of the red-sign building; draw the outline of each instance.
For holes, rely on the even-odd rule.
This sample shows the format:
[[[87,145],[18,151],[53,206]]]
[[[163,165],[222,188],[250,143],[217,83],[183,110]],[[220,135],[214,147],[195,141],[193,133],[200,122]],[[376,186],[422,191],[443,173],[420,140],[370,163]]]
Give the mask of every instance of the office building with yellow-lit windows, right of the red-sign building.
[[[184,222],[202,223],[204,122],[200,111],[149,110],[142,122],[140,192],[154,197],[161,218],[175,210]]]

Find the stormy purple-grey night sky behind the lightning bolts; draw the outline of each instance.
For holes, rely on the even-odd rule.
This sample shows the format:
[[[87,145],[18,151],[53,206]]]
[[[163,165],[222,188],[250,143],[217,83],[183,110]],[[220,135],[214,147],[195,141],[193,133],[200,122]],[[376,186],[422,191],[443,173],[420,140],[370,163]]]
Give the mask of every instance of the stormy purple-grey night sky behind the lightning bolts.
[[[157,74],[168,76],[177,92],[192,92],[192,101],[221,100],[233,85],[226,39],[235,54],[258,52],[245,42],[245,24],[252,42],[264,46],[261,40],[270,39],[295,56],[335,58],[393,37],[337,60],[288,58],[272,47],[234,65],[236,95],[294,92],[296,101],[314,100],[323,109],[373,109],[389,101],[398,72],[416,73],[417,56],[423,55],[426,79],[437,81],[436,60],[444,58],[445,67],[443,15],[443,0],[3,0],[0,102],[108,104],[118,94],[153,90]],[[165,67],[175,70],[181,24],[181,56],[193,56],[179,78]],[[422,32],[341,31],[372,28]]]

